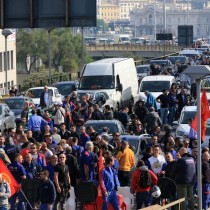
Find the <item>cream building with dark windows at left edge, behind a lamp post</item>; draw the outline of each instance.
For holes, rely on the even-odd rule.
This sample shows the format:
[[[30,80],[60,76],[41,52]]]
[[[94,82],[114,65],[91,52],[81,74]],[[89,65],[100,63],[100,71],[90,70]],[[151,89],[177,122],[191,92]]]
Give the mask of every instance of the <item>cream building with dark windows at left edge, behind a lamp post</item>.
[[[0,30],[0,95],[5,93],[6,87],[6,71],[5,71],[5,37]],[[16,72],[16,36],[15,31],[7,37],[7,82],[8,87],[17,85]]]

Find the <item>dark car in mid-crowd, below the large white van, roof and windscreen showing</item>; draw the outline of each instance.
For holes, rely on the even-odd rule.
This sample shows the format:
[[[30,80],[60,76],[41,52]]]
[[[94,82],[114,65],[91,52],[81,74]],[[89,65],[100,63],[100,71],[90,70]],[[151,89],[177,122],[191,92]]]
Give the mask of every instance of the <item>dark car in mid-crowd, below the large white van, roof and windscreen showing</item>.
[[[85,127],[93,126],[96,132],[101,134],[103,127],[108,128],[108,134],[112,135],[113,132],[119,134],[126,134],[125,128],[119,120],[88,120],[85,123]]]

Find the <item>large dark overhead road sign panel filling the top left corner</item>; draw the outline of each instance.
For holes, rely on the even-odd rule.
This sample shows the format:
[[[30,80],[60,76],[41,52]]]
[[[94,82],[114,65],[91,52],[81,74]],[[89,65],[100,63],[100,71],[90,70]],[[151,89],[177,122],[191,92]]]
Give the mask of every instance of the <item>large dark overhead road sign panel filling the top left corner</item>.
[[[0,28],[95,26],[96,0],[0,0]]]

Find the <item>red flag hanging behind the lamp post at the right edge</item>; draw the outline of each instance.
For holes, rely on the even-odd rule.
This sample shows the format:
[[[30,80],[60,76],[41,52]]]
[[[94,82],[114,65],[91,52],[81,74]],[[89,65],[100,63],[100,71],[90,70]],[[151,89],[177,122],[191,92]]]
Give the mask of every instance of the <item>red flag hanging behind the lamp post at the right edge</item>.
[[[205,140],[206,135],[206,121],[209,118],[209,103],[206,96],[206,90],[203,89],[201,95],[201,141]],[[198,115],[196,113],[195,118],[192,122],[192,128],[197,131]]]

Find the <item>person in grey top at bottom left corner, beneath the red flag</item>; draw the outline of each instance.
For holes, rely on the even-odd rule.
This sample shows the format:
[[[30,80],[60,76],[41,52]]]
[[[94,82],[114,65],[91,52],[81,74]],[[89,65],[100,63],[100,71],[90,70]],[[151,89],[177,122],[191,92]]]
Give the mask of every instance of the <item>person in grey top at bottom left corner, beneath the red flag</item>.
[[[0,174],[0,209],[8,209],[8,198],[11,195],[11,190],[9,184],[3,179],[2,174]]]

